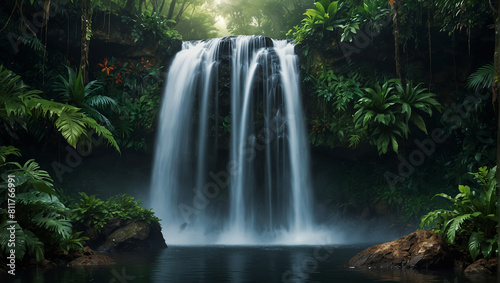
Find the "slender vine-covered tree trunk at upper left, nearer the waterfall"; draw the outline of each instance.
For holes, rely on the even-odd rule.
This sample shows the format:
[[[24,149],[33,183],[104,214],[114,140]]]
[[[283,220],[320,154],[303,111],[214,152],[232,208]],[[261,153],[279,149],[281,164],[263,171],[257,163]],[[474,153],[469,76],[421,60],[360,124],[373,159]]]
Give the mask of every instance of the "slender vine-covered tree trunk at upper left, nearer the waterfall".
[[[82,39],[80,70],[82,71],[83,83],[89,82],[89,44],[92,36],[92,4],[90,0],[82,0]]]

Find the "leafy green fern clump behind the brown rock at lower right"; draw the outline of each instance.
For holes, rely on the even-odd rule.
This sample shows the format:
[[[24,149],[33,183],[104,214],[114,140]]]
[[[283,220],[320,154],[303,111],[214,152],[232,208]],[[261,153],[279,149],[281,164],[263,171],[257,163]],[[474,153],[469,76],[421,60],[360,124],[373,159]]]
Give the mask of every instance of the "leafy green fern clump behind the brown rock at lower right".
[[[442,234],[451,244],[468,250],[472,259],[479,255],[492,258],[498,255],[498,188],[497,168],[479,168],[471,173],[479,183],[479,188],[458,186],[459,193],[449,196],[444,193],[436,196],[451,202],[451,209],[438,209],[429,212],[421,219],[420,229],[432,227]]]

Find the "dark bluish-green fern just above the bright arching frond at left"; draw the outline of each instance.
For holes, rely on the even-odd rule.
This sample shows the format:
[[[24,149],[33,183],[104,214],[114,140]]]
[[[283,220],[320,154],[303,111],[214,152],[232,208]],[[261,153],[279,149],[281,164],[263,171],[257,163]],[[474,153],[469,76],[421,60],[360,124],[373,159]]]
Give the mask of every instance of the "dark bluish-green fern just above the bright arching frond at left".
[[[55,91],[59,93],[64,102],[81,108],[87,116],[105,123],[106,127],[112,131],[113,125],[101,111],[108,107],[117,109],[117,102],[109,96],[100,94],[102,83],[94,80],[85,85],[81,70],[77,73],[71,67],[66,66],[66,68],[68,76],[67,78],[59,76],[59,82],[55,84]],[[103,68],[107,69],[109,73],[110,67],[103,66]]]

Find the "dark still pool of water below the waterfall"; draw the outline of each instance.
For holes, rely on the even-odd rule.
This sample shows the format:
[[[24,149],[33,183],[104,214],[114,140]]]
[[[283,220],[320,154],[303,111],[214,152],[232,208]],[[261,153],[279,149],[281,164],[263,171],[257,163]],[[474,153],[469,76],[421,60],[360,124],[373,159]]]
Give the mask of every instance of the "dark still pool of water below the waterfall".
[[[0,282],[498,282],[452,272],[350,269],[345,263],[368,247],[170,246],[156,253],[115,253],[111,266],[17,270]]]

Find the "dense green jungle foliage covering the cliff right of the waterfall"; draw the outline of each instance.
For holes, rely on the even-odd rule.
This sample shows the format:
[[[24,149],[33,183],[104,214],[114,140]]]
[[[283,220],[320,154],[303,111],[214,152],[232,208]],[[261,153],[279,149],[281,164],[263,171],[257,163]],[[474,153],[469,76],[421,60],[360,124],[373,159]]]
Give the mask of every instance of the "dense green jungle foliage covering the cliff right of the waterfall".
[[[366,162],[374,162],[374,157],[356,153],[366,151],[367,144],[379,154],[376,164],[358,166],[339,160],[347,167],[332,165],[345,171],[338,179],[364,172],[369,180],[331,185],[330,190],[321,192],[321,198],[342,213],[354,209],[365,215],[363,211],[368,209],[371,213],[367,215],[373,215],[375,206],[389,206],[401,220],[415,222],[426,212],[437,189],[450,194],[454,184],[472,180],[468,172],[495,164],[497,125],[489,100],[495,63],[480,67],[467,80],[455,77],[454,88],[444,88],[447,81],[435,74],[452,72],[450,63],[456,55],[445,63],[434,53],[440,48],[435,41],[438,46],[449,45],[454,52],[460,41],[469,55],[474,52],[474,40],[481,41],[474,32],[488,30],[496,6],[488,7],[487,1],[447,0],[392,4],[378,0],[317,1],[304,10],[301,23],[287,36],[301,55],[305,95],[311,100],[313,145],[335,153],[353,152],[353,159]],[[446,38],[449,41],[445,43]],[[489,42],[492,45],[491,39]],[[396,53],[394,60],[387,57],[391,52]],[[483,58],[479,64],[489,60]],[[456,68],[453,66],[455,74]],[[443,133],[443,138],[433,142],[432,150],[426,151],[432,158],[427,158],[419,144],[430,140],[434,131]],[[414,153],[424,157],[418,168],[408,162]],[[398,174],[395,186],[379,178],[397,172],[401,164],[408,164],[411,170],[404,176]],[[422,182],[424,179],[427,182]],[[435,208],[440,205],[432,204]]]

